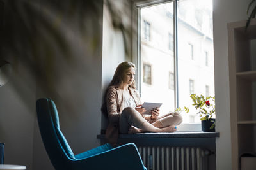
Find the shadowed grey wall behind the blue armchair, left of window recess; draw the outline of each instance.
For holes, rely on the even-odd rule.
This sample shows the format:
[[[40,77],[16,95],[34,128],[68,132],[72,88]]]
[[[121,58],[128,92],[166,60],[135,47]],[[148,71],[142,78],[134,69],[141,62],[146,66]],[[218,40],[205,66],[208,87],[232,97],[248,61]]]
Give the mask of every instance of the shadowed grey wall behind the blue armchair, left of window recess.
[[[13,77],[0,88],[4,163],[53,169],[38,131],[36,99],[55,101],[75,154],[100,145],[103,1],[5,3],[1,59],[8,56]]]

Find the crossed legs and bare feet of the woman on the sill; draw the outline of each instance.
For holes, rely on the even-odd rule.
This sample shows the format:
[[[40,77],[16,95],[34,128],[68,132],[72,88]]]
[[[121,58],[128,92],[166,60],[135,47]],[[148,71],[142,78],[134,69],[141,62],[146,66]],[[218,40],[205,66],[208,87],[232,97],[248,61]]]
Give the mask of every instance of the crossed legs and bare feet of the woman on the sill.
[[[123,134],[138,132],[175,132],[175,125],[182,122],[180,115],[166,114],[149,122],[132,107],[124,108],[120,115],[119,132]]]

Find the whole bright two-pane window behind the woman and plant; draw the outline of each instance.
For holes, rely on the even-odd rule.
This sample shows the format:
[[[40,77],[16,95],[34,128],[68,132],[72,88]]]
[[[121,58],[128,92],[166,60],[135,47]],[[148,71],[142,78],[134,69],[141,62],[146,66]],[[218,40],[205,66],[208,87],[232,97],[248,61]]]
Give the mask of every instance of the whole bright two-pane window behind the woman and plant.
[[[140,11],[139,41],[134,42],[138,43],[138,58],[134,57],[140,72],[138,89],[143,101],[163,103],[161,113],[189,106],[193,113],[184,114],[183,123],[198,123],[190,94],[205,95],[207,85],[209,96],[214,96],[214,67],[209,62],[209,56],[214,56],[212,0],[160,2],[136,4]]]

